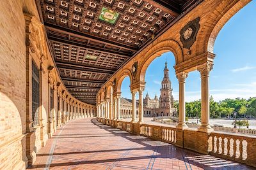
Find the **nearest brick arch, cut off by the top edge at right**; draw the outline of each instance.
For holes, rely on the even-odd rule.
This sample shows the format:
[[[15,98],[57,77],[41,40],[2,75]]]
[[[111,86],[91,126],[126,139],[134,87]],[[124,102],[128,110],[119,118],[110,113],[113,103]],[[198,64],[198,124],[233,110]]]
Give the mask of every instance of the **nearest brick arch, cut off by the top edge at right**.
[[[204,52],[213,53],[215,39],[222,27],[232,18],[237,11],[241,10],[251,0],[227,0],[220,1],[216,8],[212,9],[211,15],[207,16],[201,25],[201,29],[198,32],[196,39],[196,55],[200,55]]]

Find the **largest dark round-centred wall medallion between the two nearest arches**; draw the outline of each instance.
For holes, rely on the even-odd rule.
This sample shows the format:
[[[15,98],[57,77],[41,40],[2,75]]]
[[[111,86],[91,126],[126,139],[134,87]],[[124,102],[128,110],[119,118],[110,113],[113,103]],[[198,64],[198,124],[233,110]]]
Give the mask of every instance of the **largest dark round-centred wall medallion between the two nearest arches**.
[[[196,41],[196,34],[200,28],[200,17],[191,20],[180,30],[180,41],[184,48],[190,48]]]

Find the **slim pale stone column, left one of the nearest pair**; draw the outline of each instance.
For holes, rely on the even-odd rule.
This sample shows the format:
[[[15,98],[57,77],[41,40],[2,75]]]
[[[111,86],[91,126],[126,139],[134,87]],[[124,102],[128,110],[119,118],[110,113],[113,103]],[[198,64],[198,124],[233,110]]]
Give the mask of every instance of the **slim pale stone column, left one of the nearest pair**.
[[[186,129],[186,108],[185,108],[185,81],[188,77],[188,73],[180,72],[176,74],[179,80],[179,124],[176,128]]]

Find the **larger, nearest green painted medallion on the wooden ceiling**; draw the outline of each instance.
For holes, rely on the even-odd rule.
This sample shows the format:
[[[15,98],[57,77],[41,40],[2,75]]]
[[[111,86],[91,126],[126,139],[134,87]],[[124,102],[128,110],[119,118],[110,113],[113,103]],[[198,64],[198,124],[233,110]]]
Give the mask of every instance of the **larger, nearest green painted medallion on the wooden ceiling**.
[[[108,8],[102,7],[99,20],[103,20],[105,22],[108,22],[109,24],[115,24],[118,16],[119,13],[109,10]]]

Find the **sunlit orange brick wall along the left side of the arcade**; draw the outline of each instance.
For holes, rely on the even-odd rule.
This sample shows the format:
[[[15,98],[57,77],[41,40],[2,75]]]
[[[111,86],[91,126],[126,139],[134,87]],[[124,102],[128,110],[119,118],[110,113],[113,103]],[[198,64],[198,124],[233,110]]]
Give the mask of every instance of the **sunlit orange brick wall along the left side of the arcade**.
[[[65,117],[61,124],[76,114],[58,111],[57,96],[74,101],[83,111],[86,108],[88,117],[95,113],[95,106],[77,101],[63,86],[47,47],[35,1],[4,0],[0,2],[0,11],[0,169],[26,169],[47,143],[49,132],[59,127],[57,114]],[[40,71],[38,125],[33,125],[32,116],[32,62]],[[52,112],[49,87],[54,89]],[[82,114],[79,111],[77,118],[82,118]]]

